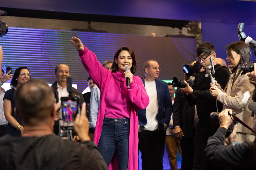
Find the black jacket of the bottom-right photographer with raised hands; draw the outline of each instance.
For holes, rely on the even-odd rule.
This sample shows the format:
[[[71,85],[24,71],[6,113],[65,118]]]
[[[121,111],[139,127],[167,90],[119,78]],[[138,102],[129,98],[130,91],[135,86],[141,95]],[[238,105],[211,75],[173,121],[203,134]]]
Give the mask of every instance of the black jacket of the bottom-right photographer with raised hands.
[[[222,127],[212,137],[209,137],[205,148],[206,158],[214,164],[232,169],[255,170],[254,143],[244,142],[235,146],[225,146],[226,132],[227,129]]]

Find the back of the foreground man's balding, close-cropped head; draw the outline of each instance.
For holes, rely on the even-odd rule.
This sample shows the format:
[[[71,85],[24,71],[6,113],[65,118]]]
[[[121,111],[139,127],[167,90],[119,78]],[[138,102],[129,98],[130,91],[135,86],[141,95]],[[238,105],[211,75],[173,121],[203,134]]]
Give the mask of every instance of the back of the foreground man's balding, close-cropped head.
[[[25,125],[47,122],[54,103],[52,88],[41,79],[22,84],[15,96],[16,108]]]

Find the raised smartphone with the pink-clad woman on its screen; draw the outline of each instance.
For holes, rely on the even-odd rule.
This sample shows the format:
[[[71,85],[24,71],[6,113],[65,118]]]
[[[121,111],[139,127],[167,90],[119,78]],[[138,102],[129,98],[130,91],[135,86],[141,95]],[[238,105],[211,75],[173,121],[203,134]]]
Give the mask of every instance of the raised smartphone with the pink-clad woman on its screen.
[[[76,97],[61,98],[60,128],[62,130],[73,130],[76,115],[80,114],[80,107]]]

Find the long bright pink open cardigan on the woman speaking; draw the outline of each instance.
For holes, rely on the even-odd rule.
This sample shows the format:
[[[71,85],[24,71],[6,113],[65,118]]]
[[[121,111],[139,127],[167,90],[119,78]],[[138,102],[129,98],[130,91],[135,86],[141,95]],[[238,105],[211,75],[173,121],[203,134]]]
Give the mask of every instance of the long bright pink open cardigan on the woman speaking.
[[[84,65],[84,68],[91,76],[92,80],[100,89],[100,108],[97,118],[97,123],[94,133],[94,142],[98,145],[100,140],[100,134],[102,130],[103,118],[105,116],[105,111],[107,107],[107,100],[113,96],[109,94],[112,90],[114,84],[122,85],[119,88],[119,92],[116,92],[120,96],[125,94],[127,98],[120,98],[119,100],[126,100],[127,106],[130,105],[130,134],[129,134],[129,160],[128,160],[128,170],[138,169],[138,113],[137,109],[145,109],[148,106],[149,98],[142,80],[138,76],[133,76],[133,82],[131,83],[131,88],[127,90],[125,86],[124,74],[116,72],[111,73],[109,70],[103,68],[98,62],[96,55],[84,47],[83,51],[78,51],[80,59]],[[108,95],[109,94],[109,95]],[[129,100],[128,100],[129,99]],[[127,107],[126,106],[126,107]],[[124,107],[124,106],[122,106]],[[115,108],[109,108],[115,110]],[[116,164],[117,159],[114,160],[115,166],[109,166],[109,168],[117,169]]]

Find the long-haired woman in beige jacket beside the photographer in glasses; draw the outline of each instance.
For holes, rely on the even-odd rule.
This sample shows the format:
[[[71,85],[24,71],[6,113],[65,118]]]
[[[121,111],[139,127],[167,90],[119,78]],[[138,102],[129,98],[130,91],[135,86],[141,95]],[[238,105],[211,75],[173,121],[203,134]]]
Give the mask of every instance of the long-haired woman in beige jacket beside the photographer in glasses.
[[[215,83],[217,87],[211,84],[210,92],[213,97],[223,104],[223,110],[225,108],[232,109],[240,119],[251,126],[253,118],[251,116],[252,112],[248,109],[248,104],[253,101],[255,87],[250,82],[247,76],[248,73],[243,74],[241,70],[241,64],[250,63],[250,48],[242,41],[235,41],[229,44],[226,50],[226,60],[231,69],[228,83],[224,90],[218,82]],[[251,131],[240,123],[238,123],[237,131],[247,133],[247,135],[238,134],[236,136],[238,143],[252,142],[255,139],[253,135],[250,135]]]

